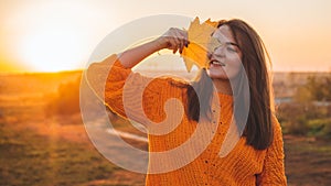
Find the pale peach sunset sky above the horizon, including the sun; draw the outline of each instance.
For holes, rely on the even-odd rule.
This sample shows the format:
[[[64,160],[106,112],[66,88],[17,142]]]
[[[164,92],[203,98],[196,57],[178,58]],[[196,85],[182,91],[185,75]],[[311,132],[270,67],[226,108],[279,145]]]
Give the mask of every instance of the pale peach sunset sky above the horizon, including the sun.
[[[154,14],[239,18],[260,34],[275,70],[331,70],[329,0],[1,0],[0,73],[84,68],[107,34]]]

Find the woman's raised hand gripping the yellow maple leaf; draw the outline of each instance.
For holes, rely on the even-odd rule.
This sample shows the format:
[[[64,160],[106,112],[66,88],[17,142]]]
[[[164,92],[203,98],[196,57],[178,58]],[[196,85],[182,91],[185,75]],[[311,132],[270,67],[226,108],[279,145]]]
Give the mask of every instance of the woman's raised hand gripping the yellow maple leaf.
[[[182,54],[184,46],[188,47],[189,44],[188,32],[171,28],[162,36],[157,39],[156,42],[159,44],[160,50],[168,48],[172,50],[173,54],[177,51]]]

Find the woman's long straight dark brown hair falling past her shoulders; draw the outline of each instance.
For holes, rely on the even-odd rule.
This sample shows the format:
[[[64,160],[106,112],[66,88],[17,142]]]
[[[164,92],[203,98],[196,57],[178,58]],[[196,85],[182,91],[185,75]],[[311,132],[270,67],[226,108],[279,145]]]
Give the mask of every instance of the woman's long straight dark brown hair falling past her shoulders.
[[[234,108],[243,109],[247,108],[248,118],[247,124],[244,129],[244,136],[247,139],[247,144],[254,146],[257,150],[267,149],[274,139],[271,113],[274,111],[273,94],[269,78],[269,70],[267,59],[269,55],[265,48],[265,45],[257,34],[257,32],[242,20],[222,20],[218,22],[218,26],[229,26],[233,36],[238,44],[243,57],[242,64],[245,69],[248,85],[249,96],[243,94],[241,87],[243,83],[237,84],[237,89],[233,90],[236,92],[238,101],[234,102]],[[200,74],[192,81],[188,88],[188,117],[190,120],[199,121],[200,116],[210,118],[211,109],[210,105],[200,108],[200,101],[211,103],[213,84],[211,78],[207,76],[205,69],[201,69]],[[200,98],[200,99],[199,99]],[[201,114],[200,114],[200,109]],[[235,118],[237,121],[241,119],[241,111],[235,110]]]

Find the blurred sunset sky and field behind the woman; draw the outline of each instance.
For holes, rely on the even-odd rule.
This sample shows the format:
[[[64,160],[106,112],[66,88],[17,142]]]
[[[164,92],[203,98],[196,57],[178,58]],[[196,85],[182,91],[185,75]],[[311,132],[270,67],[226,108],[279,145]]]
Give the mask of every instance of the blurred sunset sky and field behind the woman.
[[[288,184],[330,185],[330,7],[328,0],[1,0],[0,185],[143,185],[143,174],[116,166],[89,141],[79,85],[90,54],[107,34],[164,13],[239,18],[258,31],[273,62]],[[193,77],[183,65],[164,72],[163,64],[150,63],[137,70],[183,69],[182,76]],[[147,149],[137,138],[143,133],[110,111],[109,118],[124,140]]]

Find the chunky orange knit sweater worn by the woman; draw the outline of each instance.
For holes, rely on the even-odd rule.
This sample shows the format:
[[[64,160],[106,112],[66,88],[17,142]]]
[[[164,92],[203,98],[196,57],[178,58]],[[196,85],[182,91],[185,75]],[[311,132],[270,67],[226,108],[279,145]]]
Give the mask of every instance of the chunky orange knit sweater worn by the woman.
[[[109,69],[111,65],[113,67]],[[106,85],[99,84],[103,78],[107,79]],[[87,80],[97,95],[102,97],[103,95],[105,96],[105,103],[109,106],[113,111],[122,117],[137,120],[140,123],[146,124],[153,122],[151,124],[157,128],[161,127],[160,122],[163,120],[171,122],[171,117],[167,118],[167,111],[164,111],[166,101],[168,99],[177,98],[182,102],[185,100],[186,89],[175,86],[175,84],[178,84],[177,79],[151,79],[138,73],[132,73],[131,69],[125,68],[118,62],[116,55],[106,58],[102,63],[92,64],[87,70]],[[143,85],[148,81],[150,83],[143,88]],[[138,92],[142,92],[142,95]],[[225,157],[218,155],[222,142],[232,120],[233,98],[228,95],[217,95],[221,106],[221,119],[209,123],[216,124],[216,128],[212,131],[214,135],[204,151],[184,166],[173,168],[173,171],[167,173],[148,174],[146,185],[287,185],[284,168],[281,129],[275,117],[273,118],[275,138],[267,150],[255,150],[253,146],[247,145],[246,139],[242,136],[236,146]],[[146,116],[137,111],[141,108],[139,103],[141,96],[142,110]],[[124,107],[124,100],[126,107]],[[182,113],[185,108],[182,110],[181,108],[182,107],[178,105],[169,109],[168,114]],[[199,124],[205,124],[189,121],[186,114],[182,114],[179,121],[179,123],[175,123],[178,125],[173,127],[169,133],[157,135],[150,132],[148,134],[149,152],[166,152],[181,146],[192,138]],[[189,153],[188,151],[179,156],[185,156]],[[152,166],[175,166],[181,163],[179,162],[181,160],[182,158],[174,156],[171,156],[170,160],[156,160],[150,157],[149,163],[150,166],[151,164]]]

